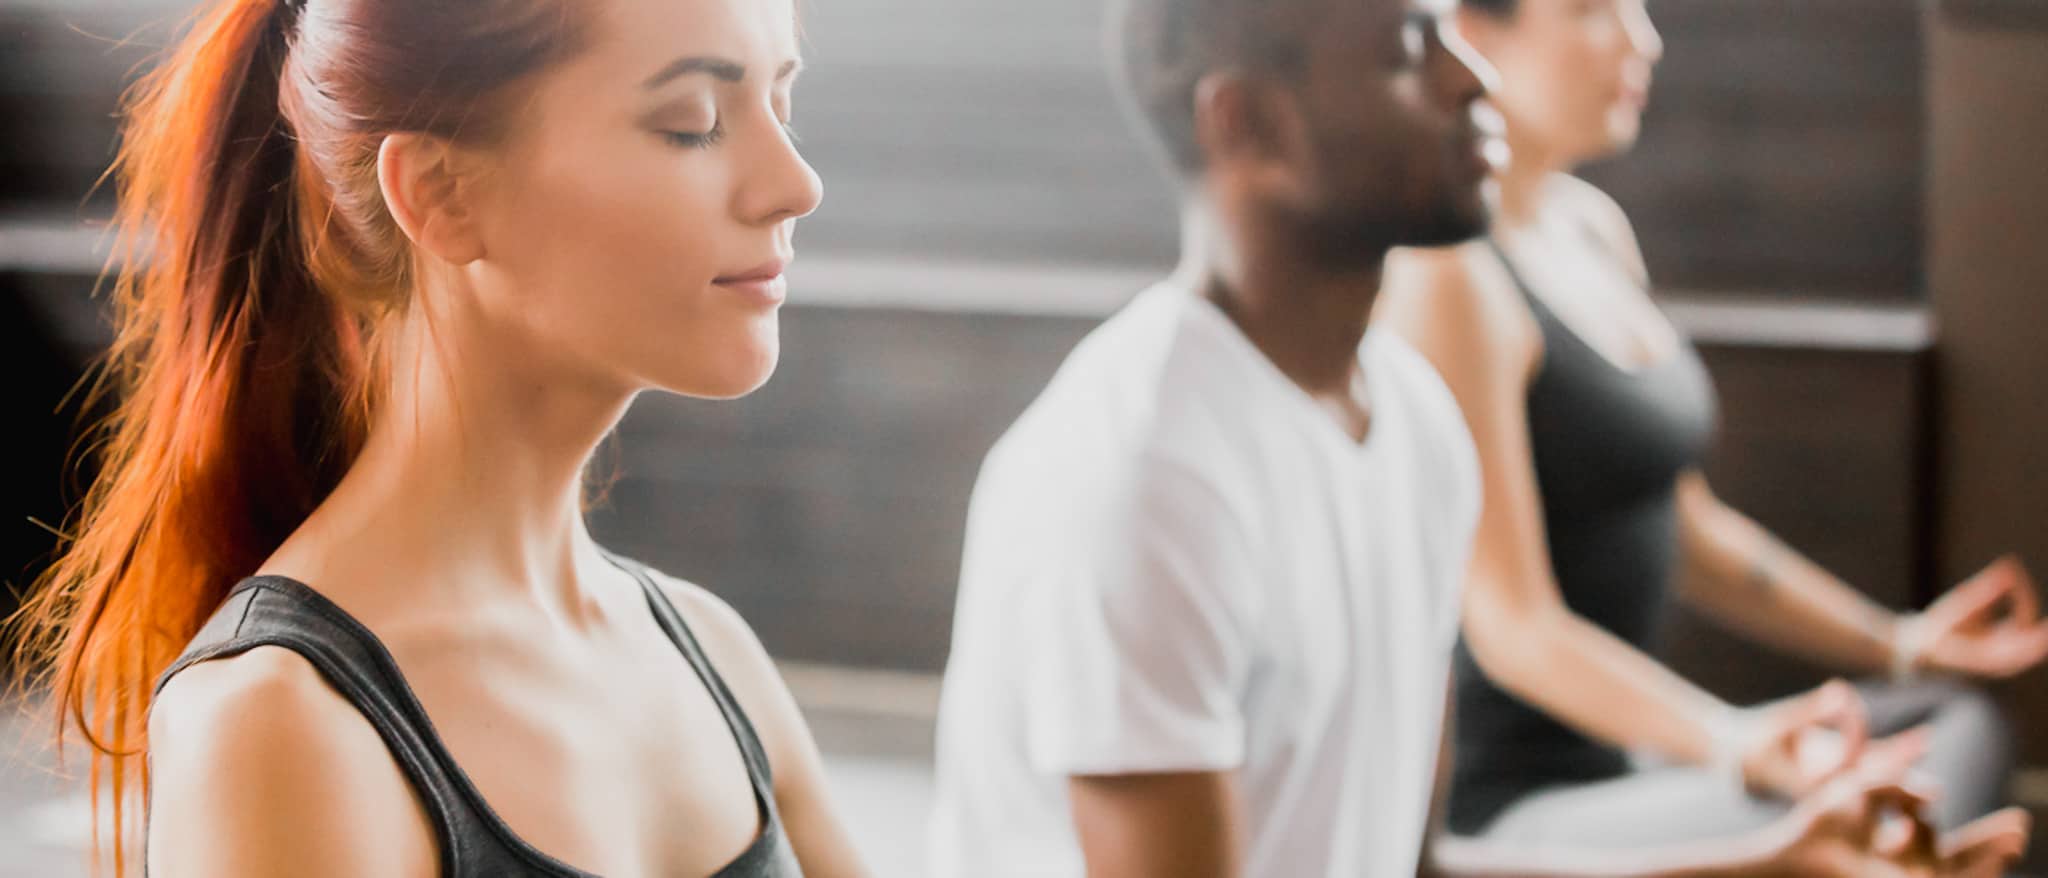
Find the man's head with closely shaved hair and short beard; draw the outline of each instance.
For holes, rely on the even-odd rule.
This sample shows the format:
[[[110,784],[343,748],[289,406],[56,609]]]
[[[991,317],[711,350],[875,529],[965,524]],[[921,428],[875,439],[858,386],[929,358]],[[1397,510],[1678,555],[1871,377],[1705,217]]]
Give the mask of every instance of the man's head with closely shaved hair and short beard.
[[[1366,266],[1485,227],[1477,106],[1491,72],[1446,27],[1454,10],[1118,0],[1112,45],[1124,98],[1182,184],[1233,199],[1305,258]]]

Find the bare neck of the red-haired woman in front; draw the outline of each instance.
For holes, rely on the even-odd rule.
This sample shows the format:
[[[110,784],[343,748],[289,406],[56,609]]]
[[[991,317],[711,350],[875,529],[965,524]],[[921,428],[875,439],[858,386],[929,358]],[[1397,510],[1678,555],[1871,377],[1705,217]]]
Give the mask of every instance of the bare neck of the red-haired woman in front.
[[[414,307],[360,456],[301,528],[309,569],[340,587],[426,577],[465,602],[524,596],[578,618],[604,567],[582,471],[633,393],[565,379],[569,366],[530,344],[475,332],[477,317],[436,313],[430,325]],[[336,555],[350,561],[322,561]]]

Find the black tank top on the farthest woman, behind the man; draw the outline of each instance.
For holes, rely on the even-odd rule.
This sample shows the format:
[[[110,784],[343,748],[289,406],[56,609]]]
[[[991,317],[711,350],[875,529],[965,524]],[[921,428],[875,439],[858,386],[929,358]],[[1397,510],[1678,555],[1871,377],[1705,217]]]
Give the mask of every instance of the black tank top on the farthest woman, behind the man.
[[[1651,651],[1677,563],[1677,477],[1714,430],[1714,389],[1690,342],[1622,370],[1571,332],[1487,242],[1542,330],[1528,434],[1550,565],[1571,612]],[[1524,794],[1628,772],[1591,741],[1493,686],[1464,641],[1452,657],[1456,763],[1448,823],[1479,833]]]

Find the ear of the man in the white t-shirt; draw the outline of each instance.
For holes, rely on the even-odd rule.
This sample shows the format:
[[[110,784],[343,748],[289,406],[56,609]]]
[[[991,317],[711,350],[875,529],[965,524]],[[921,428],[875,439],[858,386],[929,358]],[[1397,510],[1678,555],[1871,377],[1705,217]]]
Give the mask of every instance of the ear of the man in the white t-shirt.
[[[1212,72],[1194,84],[1194,137],[1212,170],[1294,188],[1313,158],[1298,98],[1274,82]]]

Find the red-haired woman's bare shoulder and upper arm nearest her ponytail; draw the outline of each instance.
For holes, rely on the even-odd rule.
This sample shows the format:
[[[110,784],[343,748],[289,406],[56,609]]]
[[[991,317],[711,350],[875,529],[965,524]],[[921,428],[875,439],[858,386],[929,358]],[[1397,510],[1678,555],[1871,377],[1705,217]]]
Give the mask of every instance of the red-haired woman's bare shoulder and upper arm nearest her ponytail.
[[[432,874],[424,810],[383,739],[297,653],[186,667],[150,710],[154,876]]]

